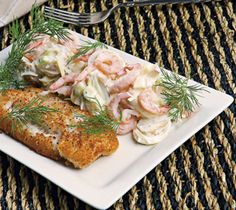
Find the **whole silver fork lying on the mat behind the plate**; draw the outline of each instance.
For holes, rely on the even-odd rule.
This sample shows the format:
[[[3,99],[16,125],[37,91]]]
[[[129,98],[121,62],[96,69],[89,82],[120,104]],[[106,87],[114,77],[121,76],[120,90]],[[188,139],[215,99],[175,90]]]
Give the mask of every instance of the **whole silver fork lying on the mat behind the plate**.
[[[44,16],[58,21],[73,25],[93,25],[106,20],[111,13],[120,7],[148,6],[148,5],[163,5],[163,4],[184,4],[184,3],[199,3],[209,0],[136,0],[115,5],[109,10],[94,12],[94,13],[76,13],[68,12],[61,9],[51,7],[44,8]]]

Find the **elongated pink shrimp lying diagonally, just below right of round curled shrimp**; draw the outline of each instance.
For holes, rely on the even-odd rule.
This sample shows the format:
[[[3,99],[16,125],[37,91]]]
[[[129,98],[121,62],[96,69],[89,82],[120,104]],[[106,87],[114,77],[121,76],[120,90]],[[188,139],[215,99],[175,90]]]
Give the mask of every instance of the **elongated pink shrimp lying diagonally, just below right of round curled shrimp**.
[[[137,63],[133,66],[129,66],[128,68],[132,70],[115,81],[114,85],[112,85],[109,89],[110,93],[119,93],[124,90],[128,90],[129,87],[135,82],[140,74],[141,64]]]

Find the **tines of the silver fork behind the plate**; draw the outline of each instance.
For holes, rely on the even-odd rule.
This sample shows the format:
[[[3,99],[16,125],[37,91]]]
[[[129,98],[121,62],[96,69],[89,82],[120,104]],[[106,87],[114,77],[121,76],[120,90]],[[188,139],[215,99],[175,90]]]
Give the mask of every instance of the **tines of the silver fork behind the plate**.
[[[44,8],[44,16],[74,25],[87,25],[90,23],[91,19],[89,13],[69,12],[47,6]]]

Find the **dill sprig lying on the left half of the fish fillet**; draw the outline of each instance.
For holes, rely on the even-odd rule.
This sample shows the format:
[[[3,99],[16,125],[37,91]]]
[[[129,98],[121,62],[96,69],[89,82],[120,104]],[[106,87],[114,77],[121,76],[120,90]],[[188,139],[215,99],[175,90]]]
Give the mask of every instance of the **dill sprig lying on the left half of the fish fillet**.
[[[11,130],[14,132],[16,128],[27,127],[29,123],[44,127],[43,116],[47,113],[57,112],[58,110],[44,106],[42,98],[33,98],[29,103],[22,106],[14,104],[11,111],[0,117],[0,120],[9,119],[12,122]]]

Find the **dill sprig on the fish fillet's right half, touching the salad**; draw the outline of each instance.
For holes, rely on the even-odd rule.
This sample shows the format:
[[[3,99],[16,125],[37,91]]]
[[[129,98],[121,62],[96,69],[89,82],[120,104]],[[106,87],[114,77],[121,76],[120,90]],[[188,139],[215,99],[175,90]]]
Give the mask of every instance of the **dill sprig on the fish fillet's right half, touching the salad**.
[[[109,109],[102,107],[96,98],[91,99],[93,99],[94,103],[98,105],[99,110],[91,116],[77,114],[76,117],[81,120],[78,125],[72,127],[80,128],[83,133],[90,135],[101,134],[111,130],[116,132],[119,128],[120,122],[112,116]]]

